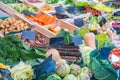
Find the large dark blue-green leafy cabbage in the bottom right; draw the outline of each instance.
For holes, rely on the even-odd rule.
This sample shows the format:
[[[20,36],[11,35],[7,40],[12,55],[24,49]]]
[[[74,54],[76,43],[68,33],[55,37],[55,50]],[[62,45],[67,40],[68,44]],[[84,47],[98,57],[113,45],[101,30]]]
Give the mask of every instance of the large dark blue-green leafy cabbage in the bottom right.
[[[97,80],[117,80],[117,73],[108,60],[98,58],[98,50],[94,50],[90,55],[90,68]]]

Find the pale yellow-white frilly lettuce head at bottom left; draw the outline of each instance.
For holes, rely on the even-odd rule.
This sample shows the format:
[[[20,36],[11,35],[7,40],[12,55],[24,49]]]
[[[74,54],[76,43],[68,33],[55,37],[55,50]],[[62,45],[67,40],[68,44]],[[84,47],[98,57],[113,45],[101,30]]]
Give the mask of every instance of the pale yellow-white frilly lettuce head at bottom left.
[[[20,62],[11,69],[11,75],[14,80],[32,80],[32,66]]]

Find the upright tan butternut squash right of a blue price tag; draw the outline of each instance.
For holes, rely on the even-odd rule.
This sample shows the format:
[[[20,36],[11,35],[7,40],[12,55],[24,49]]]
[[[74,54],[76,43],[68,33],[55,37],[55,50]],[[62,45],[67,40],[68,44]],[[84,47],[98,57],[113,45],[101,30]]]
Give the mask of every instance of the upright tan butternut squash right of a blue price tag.
[[[93,49],[96,49],[96,44],[95,44],[95,35],[93,33],[86,33],[83,36],[84,42],[86,46],[89,46]]]

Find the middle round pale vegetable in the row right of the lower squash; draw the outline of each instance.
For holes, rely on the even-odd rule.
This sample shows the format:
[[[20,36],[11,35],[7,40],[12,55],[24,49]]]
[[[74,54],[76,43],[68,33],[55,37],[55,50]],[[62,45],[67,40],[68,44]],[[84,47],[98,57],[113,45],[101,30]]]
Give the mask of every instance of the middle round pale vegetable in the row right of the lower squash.
[[[76,64],[71,64],[70,65],[70,73],[77,76],[78,74],[80,74],[81,72],[81,68],[79,65]]]

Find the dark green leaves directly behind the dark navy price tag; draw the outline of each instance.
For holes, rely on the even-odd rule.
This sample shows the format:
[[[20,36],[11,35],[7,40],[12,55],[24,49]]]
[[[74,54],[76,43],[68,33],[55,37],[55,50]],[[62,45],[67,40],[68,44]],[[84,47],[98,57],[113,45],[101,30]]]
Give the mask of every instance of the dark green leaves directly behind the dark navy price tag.
[[[64,44],[72,43],[72,36],[64,29],[61,29],[56,37],[64,37]]]

